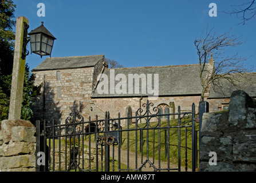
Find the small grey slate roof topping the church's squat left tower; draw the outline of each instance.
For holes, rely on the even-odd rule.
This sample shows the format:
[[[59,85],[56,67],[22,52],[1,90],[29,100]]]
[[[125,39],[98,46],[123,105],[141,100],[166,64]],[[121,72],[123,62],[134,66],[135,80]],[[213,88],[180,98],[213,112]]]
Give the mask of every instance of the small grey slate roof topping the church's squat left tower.
[[[104,59],[104,55],[48,57],[32,71],[93,67],[100,59]]]

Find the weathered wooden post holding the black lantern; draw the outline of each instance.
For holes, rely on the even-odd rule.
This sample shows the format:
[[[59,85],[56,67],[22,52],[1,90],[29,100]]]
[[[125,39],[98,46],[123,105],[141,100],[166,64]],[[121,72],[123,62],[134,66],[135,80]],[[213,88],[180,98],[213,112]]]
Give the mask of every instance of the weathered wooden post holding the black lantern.
[[[13,59],[13,76],[11,79],[11,97],[8,117],[9,120],[18,120],[21,118],[22,93],[26,62],[26,58],[21,58],[23,46],[23,22],[26,22],[27,25],[29,24],[29,20],[26,17],[17,18]]]

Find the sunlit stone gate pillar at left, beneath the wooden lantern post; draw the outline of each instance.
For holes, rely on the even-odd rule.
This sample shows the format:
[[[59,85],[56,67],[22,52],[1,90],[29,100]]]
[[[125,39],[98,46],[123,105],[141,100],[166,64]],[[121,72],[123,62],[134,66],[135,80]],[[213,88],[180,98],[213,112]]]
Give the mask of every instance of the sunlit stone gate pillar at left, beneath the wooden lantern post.
[[[36,128],[30,121],[3,120],[0,130],[0,169],[36,171]]]

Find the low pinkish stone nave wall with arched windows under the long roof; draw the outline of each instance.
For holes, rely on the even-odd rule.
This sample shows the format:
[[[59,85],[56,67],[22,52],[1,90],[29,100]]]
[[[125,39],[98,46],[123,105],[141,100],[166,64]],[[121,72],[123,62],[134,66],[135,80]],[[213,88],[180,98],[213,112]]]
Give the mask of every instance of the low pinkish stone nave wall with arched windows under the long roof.
[[[95,116],[98,119],[104,119],[105,112],[109,111],[111,118],[117,118],[118,113],[120,117],[126,117],[128,113],[128,108],[131,108],[132,113],[129,115],[135,116],[139,108],[145,108],[143,104],[147,104],[148,97],[127,97],[127,98],[92,98],[89,105],[85,106],[81,110],[81,114],[85,117],[85,120],[91,117],[91,120],[95,120]],[[192,110],[192,104],[195,103],[196,113],[198,112],[200,96],[180,96],[180,97],[158,97],[157,100],[151,100],[149,102],[153,103],[151,112],[153,113],[153,108],[161,104],[166,104],[170,107],[171,113],[178,112],[178,106],[180,106],[181,112],[190,112]],[[141,114],[143,114],[143,112]],[[140,115],[140,113],[138,113]],[[132,120],[135,122],[135,119]],[[121,124],[126,125],[126,121],[121,122]]]

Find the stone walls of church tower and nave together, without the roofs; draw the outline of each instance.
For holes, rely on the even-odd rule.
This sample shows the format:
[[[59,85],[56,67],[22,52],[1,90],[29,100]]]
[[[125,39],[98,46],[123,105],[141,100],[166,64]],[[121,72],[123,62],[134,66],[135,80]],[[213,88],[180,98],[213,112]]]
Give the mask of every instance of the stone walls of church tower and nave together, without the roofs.
[[[33,71],[36,74],[36,85],[43,83],[41,96],[37,98],[33,107],[34,120],[44,118],[46,120],[65,121],[69,114],[76,110],[85,119],[99,119],[105,117],[109,111],[111,118],[116,118],[118,113],[121,117],[131,112],[135,116],[143,104],[147,104],[148,97],[127,97],[127,98],[91,98],[92,89],[96,85],[96,75],[103,69],[103,63],[98,62],[94,67],[62,70]],[[182,112],[189,112],[192,103],[198,111],[200,96],[173,96],[158,97],[153,102],[153,107],[165,104],[170,107],[171,113],[178,112],[180,106]],[[145,110],[145,109],[144,109]],[[135,122],[135,120],[133,120]]]

